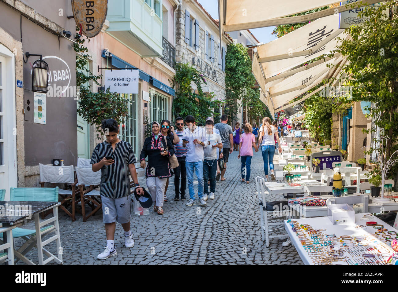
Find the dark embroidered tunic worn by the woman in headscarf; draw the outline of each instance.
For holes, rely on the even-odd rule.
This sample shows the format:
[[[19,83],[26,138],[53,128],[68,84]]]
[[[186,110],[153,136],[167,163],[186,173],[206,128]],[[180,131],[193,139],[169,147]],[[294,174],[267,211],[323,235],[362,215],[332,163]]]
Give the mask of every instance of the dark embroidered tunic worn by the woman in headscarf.
[[[166,139],[166,140],[165,140]],[[166,146],[167,143],[167,146]],[[168,155],[160,155],[160,148],[169,148]],[[145,170],[145,177],[156,176],[158,178],[170,178],[173,175],[170,168],[169,157],[174,154],[173,143],[169,137],[159,134],[158,139],[152,135],[145,139],[144,146],[142,147],[140,160],[148,157],[148,165]]]

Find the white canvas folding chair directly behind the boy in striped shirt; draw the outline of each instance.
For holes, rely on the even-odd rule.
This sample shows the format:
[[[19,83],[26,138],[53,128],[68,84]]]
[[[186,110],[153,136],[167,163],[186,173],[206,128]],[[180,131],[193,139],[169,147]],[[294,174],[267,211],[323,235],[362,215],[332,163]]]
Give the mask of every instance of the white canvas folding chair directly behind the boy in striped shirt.
[[[83,222],[97,213],[102,208],[100,191],[96,190],[101,183],[101,172],[94,172],[91,168],[76,167],[77,180],[80,183],[80,201],[82,203]],[[86,190],[84,185],[90,187]],[[86,215],[86,204],[91,207],[91,212]]]

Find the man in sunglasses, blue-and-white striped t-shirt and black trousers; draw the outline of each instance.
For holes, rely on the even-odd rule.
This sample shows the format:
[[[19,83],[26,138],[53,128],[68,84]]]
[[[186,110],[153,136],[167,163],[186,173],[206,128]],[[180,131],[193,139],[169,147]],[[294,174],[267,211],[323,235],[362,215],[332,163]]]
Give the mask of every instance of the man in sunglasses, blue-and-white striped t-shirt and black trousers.
[[[185,201],[185,188],[187,186],[187,170],[185,168],[185,156],[187,155],[187,148],[182,145],[182,135],[184,132],[184,120],[183,118],[176,118],[177,129],[173,132],[179,137],[179,142],[174,145],[174,154],[176,154],[179,166],[174,168],[174,190],[176,191],[176,197],[174,201],[179,200],[179,194],[181,193],[181,201]],[[179,187],[179,178],[181,176],[181,188]]]

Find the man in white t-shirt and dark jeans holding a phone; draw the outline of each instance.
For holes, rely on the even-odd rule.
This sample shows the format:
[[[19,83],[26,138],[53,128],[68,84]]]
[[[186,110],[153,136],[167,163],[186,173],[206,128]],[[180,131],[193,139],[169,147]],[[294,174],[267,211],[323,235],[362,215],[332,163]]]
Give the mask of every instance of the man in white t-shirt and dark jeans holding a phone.
[[[214,199],[216,191],[216,171],[217,171],[217,148],[222,149],[221,137],[213,132],[213,121],[206,121],[206,135],[209,146],[203,149],[205,159],[203,160],[203,196],[209,195],[209,199]],[[207,181],[210,181],[210,193]]]

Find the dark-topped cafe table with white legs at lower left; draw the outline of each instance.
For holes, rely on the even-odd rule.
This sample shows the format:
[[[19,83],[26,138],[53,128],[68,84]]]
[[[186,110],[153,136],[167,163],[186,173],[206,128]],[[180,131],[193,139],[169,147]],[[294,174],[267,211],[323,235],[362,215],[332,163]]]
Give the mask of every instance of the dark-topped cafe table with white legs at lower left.
[[[58,207],[60,204],[61,203],[59,202],[41,202],[41,201],[0,201],[0,210],[2,210],[2,212],[0,212],[0,224],[2,224],[3,227],[7,226],[20,227],[23,224],[27,223],[27,221],[34,219],[36,234],[40,234],[40,228],[43,225],[45,225],[43,223],[50,219],[40,222],[39,214],[51,208],[57,209],[55,207]],[[58,212],[55,211],[54,216],[57,216],[55,224],[59,229]],[[38,247],[37,250],[39,256],[39,264],[42,265],[47,263],[51,257],[43,261],[43,251],[41,250],[41,246],[43,246],[43,243],[41,242],[41,236],[37,236],[36,241]],[[13,238],[8,238],[6,232],[3,232],[3,242],[4,243],[10,242],[11,246],[13,246]],[[47,242],[47,240],[45,242]],[[60,240],[57,240],[57,248],[59,248],[58,245],[60,247]],[[25,263],[28,262],[33,264],[33,262],[27,259],[24,255],[21,254],[18,255],[16,251],[14,251],[14,253],[17,255],[17,257],[20,258],[23,257],[21,259],[25,261]]]

